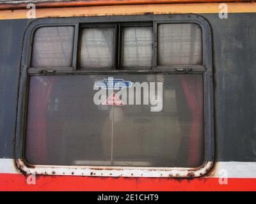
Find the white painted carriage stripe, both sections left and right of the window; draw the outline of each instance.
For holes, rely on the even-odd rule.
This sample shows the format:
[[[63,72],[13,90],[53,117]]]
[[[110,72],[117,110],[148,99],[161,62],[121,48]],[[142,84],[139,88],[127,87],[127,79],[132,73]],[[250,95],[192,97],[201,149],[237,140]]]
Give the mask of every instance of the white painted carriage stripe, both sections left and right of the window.
[[[0,173],[20,173],[14,163],[14,159],[0,159]],[[212,171],[214,174],[210,173],[208,177],[256,179],[256,162],[216,162]]]

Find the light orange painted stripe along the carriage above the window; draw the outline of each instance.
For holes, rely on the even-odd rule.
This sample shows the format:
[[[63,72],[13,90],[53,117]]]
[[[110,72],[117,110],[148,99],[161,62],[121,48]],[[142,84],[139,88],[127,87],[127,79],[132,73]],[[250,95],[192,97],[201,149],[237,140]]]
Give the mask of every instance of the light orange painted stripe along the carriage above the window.
[[[228,13],[256,12],[256,3],[227,3]],[[173,13],[218,13],[219,3],[194,4],[145,4],[116,6],[81,6],[74,8],[38,8],[36,18],[46,17],[84,17],[104,15],[143,15]],[[28,10],[3,10],[0,19],[27,18]]]

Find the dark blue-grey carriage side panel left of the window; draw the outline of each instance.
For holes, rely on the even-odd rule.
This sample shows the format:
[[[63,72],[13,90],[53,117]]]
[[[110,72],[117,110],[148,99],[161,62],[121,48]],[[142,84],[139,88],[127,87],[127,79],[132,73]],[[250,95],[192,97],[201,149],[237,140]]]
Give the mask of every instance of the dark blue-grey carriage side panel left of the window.
[[[0,158],[13,158],[22,33],[28,23],[0,21]]]

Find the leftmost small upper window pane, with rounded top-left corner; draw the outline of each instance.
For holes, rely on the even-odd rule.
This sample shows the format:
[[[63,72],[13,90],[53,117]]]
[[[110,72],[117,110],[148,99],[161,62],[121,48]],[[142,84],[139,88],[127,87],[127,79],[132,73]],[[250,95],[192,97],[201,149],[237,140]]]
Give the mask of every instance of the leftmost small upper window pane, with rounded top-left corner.
[[[40,27],[33,41],[31,67],[71,67],[74,27]]]

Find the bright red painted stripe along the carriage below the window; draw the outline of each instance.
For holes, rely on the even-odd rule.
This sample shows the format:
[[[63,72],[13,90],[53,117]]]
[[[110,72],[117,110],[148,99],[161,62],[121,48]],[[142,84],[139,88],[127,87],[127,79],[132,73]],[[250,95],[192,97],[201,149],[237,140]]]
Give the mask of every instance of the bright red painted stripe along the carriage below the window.
[[[28,185],[21,174],[0,174],[0,191],[256,191],[256,179],[149,179],[77,176],[36,176]]]

